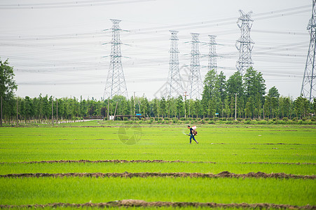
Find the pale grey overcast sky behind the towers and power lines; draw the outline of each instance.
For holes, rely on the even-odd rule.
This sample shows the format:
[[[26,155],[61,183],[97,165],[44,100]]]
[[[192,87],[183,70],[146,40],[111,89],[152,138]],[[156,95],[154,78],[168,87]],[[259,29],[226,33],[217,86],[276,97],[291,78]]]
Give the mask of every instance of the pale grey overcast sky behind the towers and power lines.
[[[267,92],[298,97],[308,54],[311,0],[0,0],[0,57],[14,67],[20,97],[101,99],[109,71],[112,23],[120,23],[129,97],[160,97],[169,71],[170,32],[179,31],[179,66],[186,78],[191,34],[200,34],[201,75],[207,73],[208,35],[216,35],[217,66],[236,70],[238,10],[253,11],[254,69]]]

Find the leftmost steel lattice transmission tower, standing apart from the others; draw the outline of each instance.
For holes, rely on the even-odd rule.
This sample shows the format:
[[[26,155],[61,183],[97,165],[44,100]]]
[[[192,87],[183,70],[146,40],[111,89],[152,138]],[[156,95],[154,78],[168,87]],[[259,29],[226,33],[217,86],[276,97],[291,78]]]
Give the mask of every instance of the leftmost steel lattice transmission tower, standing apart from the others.
[[[111,62],[109,66],[109,73],[107,75],[107,83],[104,88],[104,99],[112,98],[114,95],[123,95],[128,98],[128,90],[126,88],[121,55],[121,39],[120,27],[121,20],[111,19],[113,22],[112,40],[111,40]]]

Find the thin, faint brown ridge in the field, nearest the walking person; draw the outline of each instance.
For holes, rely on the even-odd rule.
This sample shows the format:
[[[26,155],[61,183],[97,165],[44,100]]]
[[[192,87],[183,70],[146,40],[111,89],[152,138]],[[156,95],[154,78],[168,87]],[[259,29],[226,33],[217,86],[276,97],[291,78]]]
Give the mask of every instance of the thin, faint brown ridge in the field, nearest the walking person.
[[[37,164],[37,163],[99,163],[99,162],[111,162],[111,163],[133,163],[133,162],[184,162],[184,163],[211,163],[217,164],[217,162],[202,162],[202,161],[182,161],[182,160],[42,160],[42,161],[30,161],[30,162],[0,162],[0,164]],[[279,165],[316,165],[312,162],[236,162],[237,164],[279,164]]]

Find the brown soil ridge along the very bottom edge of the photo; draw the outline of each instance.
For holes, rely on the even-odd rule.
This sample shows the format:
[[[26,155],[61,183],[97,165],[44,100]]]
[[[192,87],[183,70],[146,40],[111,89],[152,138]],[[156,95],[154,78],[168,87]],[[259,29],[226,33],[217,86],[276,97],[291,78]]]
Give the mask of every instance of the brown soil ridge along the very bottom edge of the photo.
[[[30,205],[0,205],[0,208],[44,208],[44,207],[217,207],[217,208],[259,208],[259,209],[316,209],[315,206],[294,206],[288,204],[217,204],[217,203],[200,203],[200,202],[145,202],[143,200],[120,200],[115,202],[104,203],[85,203],[85,204],[68,204],[68,203],[53,203],[53,204],[30,204]]]

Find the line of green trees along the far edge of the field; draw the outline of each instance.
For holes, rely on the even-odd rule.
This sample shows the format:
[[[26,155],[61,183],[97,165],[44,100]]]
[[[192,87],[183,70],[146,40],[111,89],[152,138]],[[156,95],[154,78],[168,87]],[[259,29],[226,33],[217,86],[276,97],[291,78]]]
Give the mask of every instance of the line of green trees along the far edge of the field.
[[[1,62],[1,77],[11,75],[7,81],[0,84],[1,115],[6,120],[46,120],[51,118],[105,118],[120,116],[118,119],[135,118],[142,114],[146,118],[306,118],[315,115],[316,100],[298,97],[280,96],[276,87],[266,92],[262,73],[252,67],[245,75],[236,71],[226,80],[221,71],[214,69],[207,72],[201,99],[179,97],[161,97],[147,99],[146,96],[130,97],[114,96],[112,99],[83,99],[82,97],[57,99],[48,97],[15,97],[13,91],[17,85],[13,80],[13,69],[7,61]],[[5,67],[4,67],[5,66]],[[10,73],[8,73],[10,70]],[[1,79],[2,80],[2,79]],[[2,80],[4,81],[4,80]],[[12,82],[13,81],[13,82]],[[10,88],[8,88],[9,85]],[[10,89],[9,91],[6,89]]]

